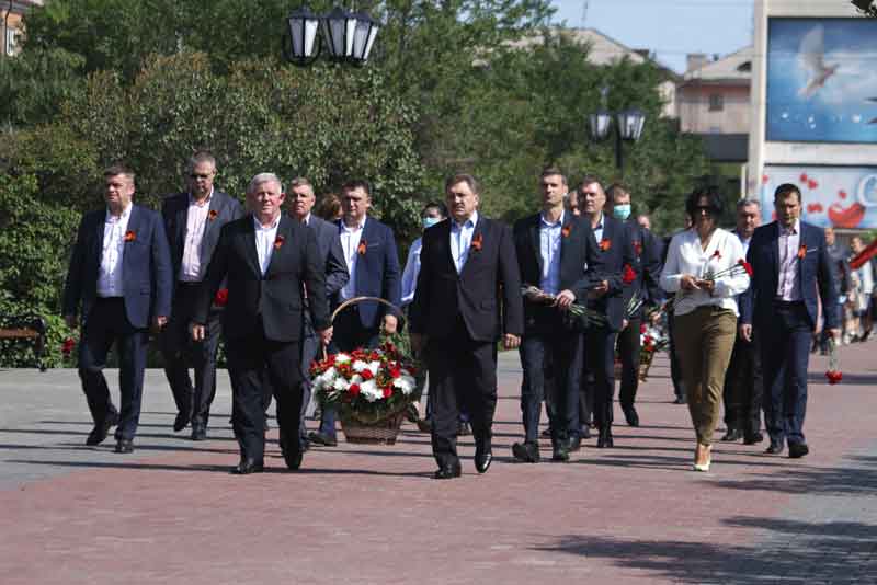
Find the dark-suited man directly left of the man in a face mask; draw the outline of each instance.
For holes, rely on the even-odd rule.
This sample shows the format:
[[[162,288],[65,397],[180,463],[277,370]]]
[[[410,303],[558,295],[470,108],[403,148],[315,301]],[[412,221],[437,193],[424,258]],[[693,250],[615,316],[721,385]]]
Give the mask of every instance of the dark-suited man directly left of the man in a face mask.
[[[584,339],[582,423],[593,411],[600,436],[596,446],[612,447],[613,395],[615,393],[615,339],[627,326],[625,311],[636,279],[623,277],[634,271],[630,232],[627,226],[603,213],[606,193],[600,180],[585,176],[579,186],[582,216],[591,225],[603,260],[603,282],[589,292],[588,306],[606,316],[606,324],[590,324]]]

